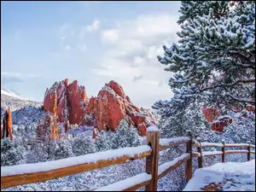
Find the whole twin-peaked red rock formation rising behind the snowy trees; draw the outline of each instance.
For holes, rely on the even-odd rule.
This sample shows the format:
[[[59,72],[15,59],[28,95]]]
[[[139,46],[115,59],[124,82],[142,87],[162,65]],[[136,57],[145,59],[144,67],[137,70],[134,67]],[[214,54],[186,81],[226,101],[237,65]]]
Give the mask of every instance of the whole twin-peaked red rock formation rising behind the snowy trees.
[[[56,94],[56,96],[55,96]],[[96,97],[87,98],[84,86],[78,81],[68,84],[68,79],[55,83],[46,90],[44,110],[55,114],[52,107],[56,100],[58,122],[63,123],[67,131],[67,121],[71,125],[90,125],[98,131],[118,128],[119,121],[126,119],[129,125],[135,125],[141,135],[146,135],[147,127],[155,124],[154,117],[143,109],[134,106],[125,91],[116,82],[110,81],[99,91]],[[55,130],[55,129],[54,129]],[[52,137],[56,137],[55,132]],[[97,136],[97,132],[94,132]]]

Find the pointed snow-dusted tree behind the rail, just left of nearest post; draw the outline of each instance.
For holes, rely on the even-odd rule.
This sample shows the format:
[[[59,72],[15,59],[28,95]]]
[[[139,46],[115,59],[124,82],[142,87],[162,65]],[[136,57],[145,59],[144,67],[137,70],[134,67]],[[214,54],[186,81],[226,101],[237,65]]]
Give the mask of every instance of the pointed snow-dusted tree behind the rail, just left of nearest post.
[[[125,147],[137,147],[142,141],[135,127],[129,127],[125,119],[120,120],[114,137],[111,138],[113,149]]]

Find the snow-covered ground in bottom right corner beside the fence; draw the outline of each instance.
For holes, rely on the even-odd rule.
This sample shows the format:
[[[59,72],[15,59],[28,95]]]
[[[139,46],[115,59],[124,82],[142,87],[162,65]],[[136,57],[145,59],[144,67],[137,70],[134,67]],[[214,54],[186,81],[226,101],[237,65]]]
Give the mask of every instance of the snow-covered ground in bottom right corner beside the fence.
[[[183,191],[208,188],[223,191],[255,191],[255,160],[245,163],[217,163],[195,171]]]

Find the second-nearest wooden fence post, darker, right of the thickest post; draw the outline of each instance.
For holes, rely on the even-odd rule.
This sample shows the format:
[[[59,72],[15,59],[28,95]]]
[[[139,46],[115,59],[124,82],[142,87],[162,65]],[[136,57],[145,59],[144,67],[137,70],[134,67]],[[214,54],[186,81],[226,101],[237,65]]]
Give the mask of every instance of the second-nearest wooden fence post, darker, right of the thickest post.
[[[190,142],[187,143],[187,150],[186,153],[190,154],[189,160],[187,160],[187,165],[186,165],[186,183],[189,183],[190,178],[192,177],[192,146],[193,146],[193,135],[192,131],[188,130],[186,131],[187,136],[190,137]]]

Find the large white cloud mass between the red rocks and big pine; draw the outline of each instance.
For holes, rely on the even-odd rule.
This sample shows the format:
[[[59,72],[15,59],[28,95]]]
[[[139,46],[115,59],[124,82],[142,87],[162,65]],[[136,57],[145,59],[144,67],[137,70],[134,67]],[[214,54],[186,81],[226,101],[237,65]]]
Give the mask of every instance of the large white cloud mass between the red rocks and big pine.
[[[116,80],[137,105],[149,108],[159,99],[169,99],[172,90],[167,79],[172,73],[166,73],[156,57],[163,55],[163,44],[177,41],[176,22],[175,15],[140,15],[103,30],[102,43],[111,46],[93,72]]]

